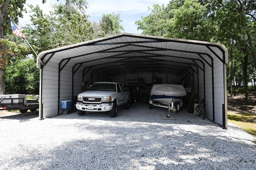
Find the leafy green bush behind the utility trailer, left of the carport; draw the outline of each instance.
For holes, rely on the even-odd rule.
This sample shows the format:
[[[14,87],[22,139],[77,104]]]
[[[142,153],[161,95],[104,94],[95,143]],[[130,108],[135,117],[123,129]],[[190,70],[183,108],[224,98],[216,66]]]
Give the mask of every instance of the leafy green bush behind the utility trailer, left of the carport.
[[[38,94],[39,69],[33,59],[12,61],[6,66],[6,94]]]

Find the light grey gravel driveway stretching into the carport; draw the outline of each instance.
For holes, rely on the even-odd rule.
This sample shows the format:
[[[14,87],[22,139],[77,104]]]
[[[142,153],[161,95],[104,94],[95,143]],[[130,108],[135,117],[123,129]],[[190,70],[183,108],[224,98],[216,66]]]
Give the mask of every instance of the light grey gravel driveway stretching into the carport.
[[[0,117],[0,170],[255,169],[256,139],[182,110],[146,104],[117,117],[90,112],[44,120],[38,113]]]

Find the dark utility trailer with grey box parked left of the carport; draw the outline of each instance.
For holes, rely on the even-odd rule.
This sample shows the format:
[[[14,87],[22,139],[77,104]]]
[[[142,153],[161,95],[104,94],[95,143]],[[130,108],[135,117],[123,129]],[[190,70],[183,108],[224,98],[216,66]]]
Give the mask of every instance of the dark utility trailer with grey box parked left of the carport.
[[[36,111],[39,108],[38,100],[26,100],[25,94],[0,95],[0,110],[19,110],[20,113]]]

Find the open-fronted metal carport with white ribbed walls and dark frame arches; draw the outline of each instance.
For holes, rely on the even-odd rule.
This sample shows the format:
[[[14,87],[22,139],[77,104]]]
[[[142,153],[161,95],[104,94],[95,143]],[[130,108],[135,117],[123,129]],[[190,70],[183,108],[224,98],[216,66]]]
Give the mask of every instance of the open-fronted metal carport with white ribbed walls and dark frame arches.
[[[206,102],[206,117],[227,127],[226,63],[220,43],[120,33],[41,52],[39,118],[60,114],[60,101],[90,82],[121,80],[130,74],[175,75]],[[121,78],[120,78],[121,77]],[[117,79],[115,79],[117,78]]]

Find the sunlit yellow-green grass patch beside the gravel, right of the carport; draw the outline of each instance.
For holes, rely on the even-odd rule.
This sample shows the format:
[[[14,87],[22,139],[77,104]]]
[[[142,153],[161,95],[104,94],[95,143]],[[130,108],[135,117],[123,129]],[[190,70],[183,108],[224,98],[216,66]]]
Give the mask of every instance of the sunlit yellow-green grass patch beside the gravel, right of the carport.
[[[248,133],[256,137],[256,122],[254,122],[254,114],[237,113],[235,111],[228,111],[228,122],[238,125]]]

